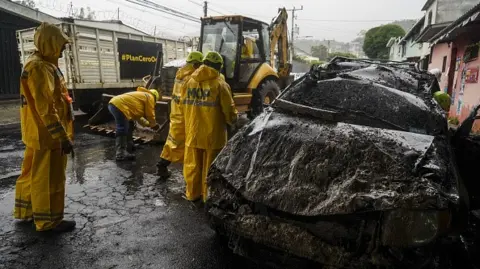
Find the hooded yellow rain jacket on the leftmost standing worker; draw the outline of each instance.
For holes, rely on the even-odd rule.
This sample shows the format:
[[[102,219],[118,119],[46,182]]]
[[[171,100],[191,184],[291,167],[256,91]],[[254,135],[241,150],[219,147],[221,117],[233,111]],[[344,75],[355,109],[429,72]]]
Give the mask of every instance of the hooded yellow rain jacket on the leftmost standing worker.
[[[57,67],[68,38],[56,26],[42,24],[34,39],[38,51],[28,58],[21,76],[22,140],[36,150],[60,148],[62,140],[73,140],[71,98]]]

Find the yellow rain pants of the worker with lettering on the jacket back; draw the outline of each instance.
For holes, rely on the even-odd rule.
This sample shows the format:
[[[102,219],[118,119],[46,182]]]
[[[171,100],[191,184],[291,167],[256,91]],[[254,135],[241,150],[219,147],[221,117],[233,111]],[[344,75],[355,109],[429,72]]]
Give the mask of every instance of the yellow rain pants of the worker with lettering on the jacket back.
[[[221,149],[185,147],[183,177],[186,183],[187,200],[195,201],[201,197],[203,197],[204,202],[207,200],[208,169],[220,151]]]

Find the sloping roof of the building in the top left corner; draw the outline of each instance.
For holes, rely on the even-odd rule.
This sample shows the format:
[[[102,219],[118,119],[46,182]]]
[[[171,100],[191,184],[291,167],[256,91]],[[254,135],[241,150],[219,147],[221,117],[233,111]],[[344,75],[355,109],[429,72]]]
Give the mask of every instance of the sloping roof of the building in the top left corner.
[[[23,19],[30,20],[33,22],[49,22],[49,23],[60,23],[61,20],[55,18],[47,13],[43,13],[38,9],[33,9],[10,0],[0,0],[0,9],[13,14],[15,16],[22,17]]]

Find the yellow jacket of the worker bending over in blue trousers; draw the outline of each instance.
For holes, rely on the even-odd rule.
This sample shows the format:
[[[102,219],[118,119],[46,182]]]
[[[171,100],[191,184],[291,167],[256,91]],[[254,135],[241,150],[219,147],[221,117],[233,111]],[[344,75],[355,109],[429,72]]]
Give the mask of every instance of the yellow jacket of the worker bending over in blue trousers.
[[[159,98],[162,99],[162,96]],[[138,87],[135,92],[117,95],[110,100],[110,104],[118,108],[128,120],[138,121],[145,127],[154,127],[155,96],[149,90]]]

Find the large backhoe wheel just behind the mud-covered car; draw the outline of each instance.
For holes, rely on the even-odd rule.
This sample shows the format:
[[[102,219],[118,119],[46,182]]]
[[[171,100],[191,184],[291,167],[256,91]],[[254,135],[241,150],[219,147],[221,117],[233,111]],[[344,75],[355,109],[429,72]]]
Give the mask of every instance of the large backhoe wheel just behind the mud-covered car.
[[[257,90],[253,91],[249,118],[253,119],[260,115],[265,106],[271,104],[279,94],[280,87],[275,80],[264,81]]]

